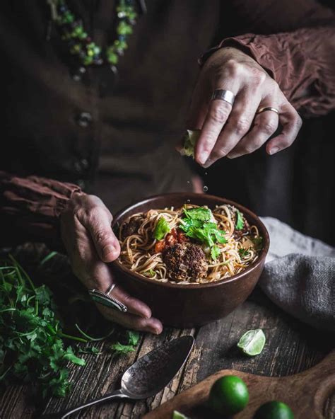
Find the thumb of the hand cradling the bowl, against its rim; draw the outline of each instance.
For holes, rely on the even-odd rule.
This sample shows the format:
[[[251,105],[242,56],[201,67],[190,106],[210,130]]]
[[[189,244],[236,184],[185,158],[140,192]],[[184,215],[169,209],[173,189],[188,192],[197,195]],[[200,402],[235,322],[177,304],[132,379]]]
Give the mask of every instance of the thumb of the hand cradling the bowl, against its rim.
[[[117,259],[120,253],[119,241],[112,231],[111,222],[112,215],[101,210],[95,211],[86,225],[100,259],[106,263]]]

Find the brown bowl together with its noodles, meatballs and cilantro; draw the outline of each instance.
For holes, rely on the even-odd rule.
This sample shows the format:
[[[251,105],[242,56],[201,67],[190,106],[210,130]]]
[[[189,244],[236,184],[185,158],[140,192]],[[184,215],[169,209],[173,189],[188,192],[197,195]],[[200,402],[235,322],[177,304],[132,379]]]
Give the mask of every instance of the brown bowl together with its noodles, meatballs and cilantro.
[[[204,209],[192,213],[198,207]],[[159,219],[166,224],[158,228]],[[236,309],[257,284],[269,249],[269,234],[256,214],[207,193],[148,197],[115,214],[112,228],[126,252],[110,264],[117,285],[175,327],[201,326]]]

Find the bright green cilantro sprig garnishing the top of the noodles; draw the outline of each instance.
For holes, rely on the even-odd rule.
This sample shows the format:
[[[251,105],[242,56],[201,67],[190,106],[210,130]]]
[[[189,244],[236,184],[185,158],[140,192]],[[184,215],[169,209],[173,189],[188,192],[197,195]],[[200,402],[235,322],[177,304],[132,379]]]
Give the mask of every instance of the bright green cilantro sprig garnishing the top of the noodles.
[[[220,255],[220,248],[216,243],[227,243],[225,231],[218,229],[213,222],[211,209],[199,207],[193,209],[184,208],[184,218],[180,229],[186,236],[204,243],[211,249],[211,257],[216,260]]]

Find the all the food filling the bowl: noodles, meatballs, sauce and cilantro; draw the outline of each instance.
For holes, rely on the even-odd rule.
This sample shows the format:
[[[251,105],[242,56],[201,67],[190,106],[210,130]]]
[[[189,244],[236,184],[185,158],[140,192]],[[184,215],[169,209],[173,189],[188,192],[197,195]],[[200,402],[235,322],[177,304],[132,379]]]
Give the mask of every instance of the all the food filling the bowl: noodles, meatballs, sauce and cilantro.
[[[262,237],[233,205],[186,204],[131,215],[119,229],[119,262],[159,282],[205,284],[257,260]]]

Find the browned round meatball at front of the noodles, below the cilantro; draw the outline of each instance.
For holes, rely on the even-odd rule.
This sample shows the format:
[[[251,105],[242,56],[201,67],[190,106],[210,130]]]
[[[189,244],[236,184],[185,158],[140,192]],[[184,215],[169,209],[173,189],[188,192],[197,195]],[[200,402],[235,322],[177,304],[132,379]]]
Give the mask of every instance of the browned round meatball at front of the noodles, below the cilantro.
[[[183,242],[169,246],[163,251],[163,261],[171,280],[194,281],[207,275],[206,255],[198,244]]]

